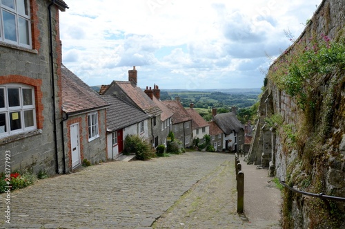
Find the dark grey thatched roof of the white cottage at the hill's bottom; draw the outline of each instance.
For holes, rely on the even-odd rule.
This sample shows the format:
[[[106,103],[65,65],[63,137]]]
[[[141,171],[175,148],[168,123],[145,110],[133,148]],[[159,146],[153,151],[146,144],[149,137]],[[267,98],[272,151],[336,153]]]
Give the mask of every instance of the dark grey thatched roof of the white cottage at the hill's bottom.
[[[213,120],[226,135],[231,134],[233,131],[238,133],[241,129],[244,129],[244,125],[239,122],[233,112],[219,113],[213,117]]]

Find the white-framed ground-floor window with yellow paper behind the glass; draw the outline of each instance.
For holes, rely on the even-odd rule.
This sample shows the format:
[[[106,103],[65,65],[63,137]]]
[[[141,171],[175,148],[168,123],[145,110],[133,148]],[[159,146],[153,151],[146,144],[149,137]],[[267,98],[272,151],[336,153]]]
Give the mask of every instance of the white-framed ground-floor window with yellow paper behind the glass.
[[[0,85],[0,137],[36,129],[34,88]]]

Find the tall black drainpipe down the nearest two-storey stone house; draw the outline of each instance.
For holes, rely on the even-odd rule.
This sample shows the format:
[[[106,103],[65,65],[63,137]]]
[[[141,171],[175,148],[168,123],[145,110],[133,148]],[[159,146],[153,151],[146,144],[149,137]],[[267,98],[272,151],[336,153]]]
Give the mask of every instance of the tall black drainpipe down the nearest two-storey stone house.
[[[55,161],[56,161],[56,173],[59,174],[59,155],[57,150],[57,115],[56,115],[56,105],[55,105],[55,80],[54,80],[54,57],[52,53],[52,5],[55,4],[55,0],[52,0],[52,3],[48,6],[49,12],[49,38],[50,38],[50,74],[52,80],[52,109],[53,109],[53,120],[54,120],[54,141],[55,141]]]

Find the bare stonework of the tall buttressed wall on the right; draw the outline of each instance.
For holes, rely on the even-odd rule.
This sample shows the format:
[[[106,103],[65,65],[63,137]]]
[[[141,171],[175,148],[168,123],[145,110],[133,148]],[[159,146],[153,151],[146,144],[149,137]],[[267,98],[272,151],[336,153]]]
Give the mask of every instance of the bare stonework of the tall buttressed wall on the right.
[[[302,35],[284,54],[270,66],[273,71],[279,59],[292,53],[301,41],[322,39],[327,35],[333,41],[345,36],[345,2],[343,0],[324,0],[311,18]],[[248,154],[248,163],[267,165],[270,156],[270,175],[277,176],[297,190],[345,196],[345,72],[315,75],[319,86],[313,94],[317,98],[313,117],[299,107],[296,98],[268,77],[266,91],[262,95],[255,127],[253,143]],[[335,85],[332,84],[335,82]],[[332,87],[333,85],[333,87]],[[330,131],[321,143],[315,138],[317,126],[324,125],[323,107],[328,95],[333,94]],[[282,117],[280,126],[267,127],[267,118],[273,115]],[[308,132],[302,129],[305,122],[313,123]],[[297,136],[295,143],[286,138],[282,126],[291,125]],[[285,131],[285,132],[284,132]],[[315,148],[311,147],[315,145]],[[269,155],[270,154],[270,155]],[[269,206],[268,206],[269,208]],[[329,201],[294,194],[284,190],[283,226],[284,228],[345,228],[344,202]]]

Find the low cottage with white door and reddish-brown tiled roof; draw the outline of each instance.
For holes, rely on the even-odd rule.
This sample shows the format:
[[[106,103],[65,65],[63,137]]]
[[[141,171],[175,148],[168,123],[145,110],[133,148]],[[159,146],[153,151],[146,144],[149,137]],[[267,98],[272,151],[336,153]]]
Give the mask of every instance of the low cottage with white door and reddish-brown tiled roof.
[[[106,108],[108,102],[65,66],[61,66],[63,155],[65,170],[86,159],[106,161]]]

